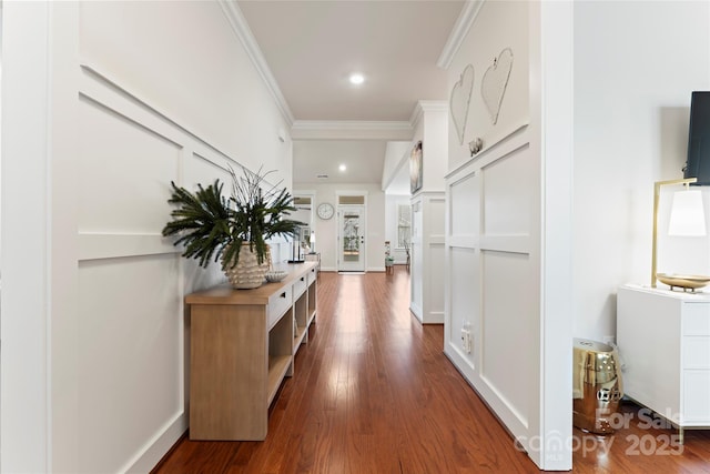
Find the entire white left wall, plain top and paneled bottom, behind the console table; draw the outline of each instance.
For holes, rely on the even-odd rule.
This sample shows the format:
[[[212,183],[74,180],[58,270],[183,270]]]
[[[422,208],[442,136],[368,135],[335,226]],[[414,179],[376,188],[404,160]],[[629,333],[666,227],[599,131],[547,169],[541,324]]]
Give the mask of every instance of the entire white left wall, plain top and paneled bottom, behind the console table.
[[[3,9],[1,467],[148,472],[187,425],[183,297],[224,280],[160,235],[170,181],[288,184],[287,124],[219,2]]]

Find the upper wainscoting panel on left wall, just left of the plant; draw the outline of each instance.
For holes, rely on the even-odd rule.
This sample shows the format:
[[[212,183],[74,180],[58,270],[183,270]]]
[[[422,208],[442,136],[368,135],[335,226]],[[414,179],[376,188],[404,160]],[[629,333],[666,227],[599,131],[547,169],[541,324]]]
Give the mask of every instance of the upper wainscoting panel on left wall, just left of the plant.
[[[79,110],[79,231],[160,233],[181,147],[87,98]]]

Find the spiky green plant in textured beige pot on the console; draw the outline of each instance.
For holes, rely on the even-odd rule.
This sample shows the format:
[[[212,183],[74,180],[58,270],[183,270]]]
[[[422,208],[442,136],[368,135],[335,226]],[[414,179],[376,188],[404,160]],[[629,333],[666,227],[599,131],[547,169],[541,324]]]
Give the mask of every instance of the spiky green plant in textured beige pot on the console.
[[[168,202],[178,204],[171,212],[172,220],[163,228],[164,236],[178,236],[175,245],[184,245],[185,258],[199,261],[206,268],[210,261],[221,260],[230,283],[236,289],[261,286],[271,265],[271,238],[293,236],[303,222],[287,219],[296,208],[285,188],[268,186],[265,178],[273,171],[254,173],[243,168],[232,177],[232,195],[222,194],[224,184],[215,180],[203,188],[197,184],[194,193],[172,185]]]

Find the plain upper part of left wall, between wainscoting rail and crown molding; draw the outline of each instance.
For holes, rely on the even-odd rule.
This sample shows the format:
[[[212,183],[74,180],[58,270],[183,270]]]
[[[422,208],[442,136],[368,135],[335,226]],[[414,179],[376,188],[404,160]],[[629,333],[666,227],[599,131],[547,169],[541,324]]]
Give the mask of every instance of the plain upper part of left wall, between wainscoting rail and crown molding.
[[[220,2],[82,3],[80,53],[212,147],[254,170],[275,170],[273,181],[291,188],[278,140],[290,125]]]

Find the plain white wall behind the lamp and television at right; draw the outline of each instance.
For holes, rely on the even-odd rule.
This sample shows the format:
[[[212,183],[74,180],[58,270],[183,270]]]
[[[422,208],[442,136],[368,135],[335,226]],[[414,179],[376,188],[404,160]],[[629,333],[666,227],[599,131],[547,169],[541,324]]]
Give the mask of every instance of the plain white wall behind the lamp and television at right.
[[[710,88],[709,20],[708,2],[575,2],[576,336],[615,335],[616,289],[650,283],[653,182],[682,178],[690,92]],[[702,263],[688,270],[710,274],[707,240],[667,242],[659,270],[681,271],[690,245]]]

